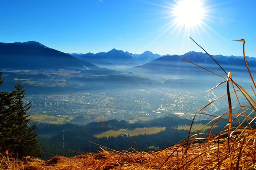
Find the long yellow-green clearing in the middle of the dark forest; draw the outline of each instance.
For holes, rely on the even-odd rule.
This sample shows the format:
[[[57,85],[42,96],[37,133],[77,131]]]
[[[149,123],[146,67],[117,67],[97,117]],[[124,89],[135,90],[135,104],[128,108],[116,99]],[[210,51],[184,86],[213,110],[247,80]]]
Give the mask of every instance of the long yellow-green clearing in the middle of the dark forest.
[[[109,137],[109,136],[118,136],[118,135],[121,135],[122,133],[127,133],[127,134],[130,134],[131,136],[136,136],[136,135],[145,134],[145,133],[146,134],[158,133],[165,129],[166,129],[166,127],[143,127],[143,128],[137,128],[134,130],[119,129],[117,131],[109,130],[107,132],[104,132],[101,134],[96,134],[94,136],[96,138],[102,138],[102,137]]]

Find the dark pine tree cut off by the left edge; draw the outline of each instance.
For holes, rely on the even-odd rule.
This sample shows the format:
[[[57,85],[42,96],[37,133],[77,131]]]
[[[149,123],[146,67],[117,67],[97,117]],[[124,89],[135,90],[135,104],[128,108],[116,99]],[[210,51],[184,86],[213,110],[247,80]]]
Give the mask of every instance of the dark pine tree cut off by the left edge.
[[[0,71],[0,86],[3,85],[3,73]],[[12,93],[0,91],[0,153],[11,150],[12,142],[15,140],[13,130],[15,122],[13,121]]]

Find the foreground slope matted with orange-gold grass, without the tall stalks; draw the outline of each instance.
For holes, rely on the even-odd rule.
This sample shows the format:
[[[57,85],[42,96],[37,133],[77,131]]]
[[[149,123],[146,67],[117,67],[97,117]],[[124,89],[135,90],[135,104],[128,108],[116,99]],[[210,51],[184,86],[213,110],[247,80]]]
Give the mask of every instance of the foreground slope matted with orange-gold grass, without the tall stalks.
[[[101,146],[98,153],[86,153],[72,158],[56,156],[48,161],[25,158],[12,162],[3,155],[0,168],[11,170],[159,170],[159,169],[256,169],[256,130],[245,130],[235,140],[220,144],[206,142],[183,147],[182,144],[152,153],[115,151]],[[16,164],[17,163],[17,164]]]

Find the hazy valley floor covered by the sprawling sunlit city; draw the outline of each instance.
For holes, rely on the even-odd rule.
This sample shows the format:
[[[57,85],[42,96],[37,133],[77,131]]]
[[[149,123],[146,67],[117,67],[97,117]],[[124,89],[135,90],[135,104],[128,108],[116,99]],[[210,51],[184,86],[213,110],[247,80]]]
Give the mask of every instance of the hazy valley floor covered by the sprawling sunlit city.
[[[221,93],[218,92],[217,94],[220,95]],[[143,122],[144,120],[177,113],[183,113],[178,114],[181,118],[192,119],[194,114],[209,102],[205,96],[212,97],[210,92],[207,94],[205,91],[194,92],[177,91],[168,88],[148,88],[80,91],[79,93],[58,95],[38,94],[26,96],[25,101],[32,102],[32,107],[28,111],[32,115],[32,120],[40,122],[41,119],[37,119],[34,116],[37,114],[67,115],[69,118],[62,119],[62,122],[59,123],[71,122],[84,125],[90,122],[111,119]],[[224,109],[223,102],[216,101],[215,105],[218,105],[220,109]],[[212,114],[217,112],[215,105],[210,105],[205,112]],[[70,117],[73,117],[73,119]],[[203,119],[209,119],[209,117],[198,116],[196,118],[196,120]],[[42,121],[47,122],[46,120]],[[52,122],[52,120],[49,122]]]

